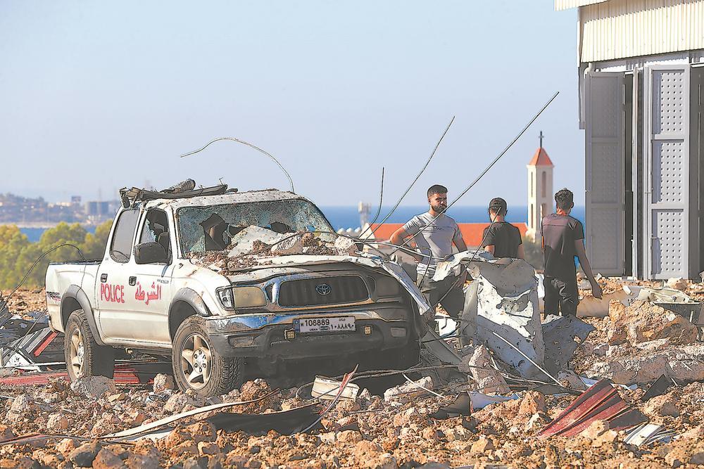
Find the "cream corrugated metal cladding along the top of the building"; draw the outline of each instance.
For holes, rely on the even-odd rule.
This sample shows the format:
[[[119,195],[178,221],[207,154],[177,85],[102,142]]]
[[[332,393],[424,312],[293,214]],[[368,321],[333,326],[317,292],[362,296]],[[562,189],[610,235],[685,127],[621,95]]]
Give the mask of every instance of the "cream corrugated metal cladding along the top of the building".
[[[704,49],[704,0],[611,0],[579,13],[583,63]]]

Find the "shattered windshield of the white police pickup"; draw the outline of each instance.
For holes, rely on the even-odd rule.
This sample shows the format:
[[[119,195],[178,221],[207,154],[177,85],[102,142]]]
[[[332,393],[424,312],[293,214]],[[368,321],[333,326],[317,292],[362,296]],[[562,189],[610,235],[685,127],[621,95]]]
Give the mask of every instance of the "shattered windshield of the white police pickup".
[[[232,237],[247,226],[260,226],[276,233],[333,231],[318,207],[307,200],[182,207],[177,219],[186,256],[225,250]],[[320,238],[334,240],[331,234],[321,234]]]

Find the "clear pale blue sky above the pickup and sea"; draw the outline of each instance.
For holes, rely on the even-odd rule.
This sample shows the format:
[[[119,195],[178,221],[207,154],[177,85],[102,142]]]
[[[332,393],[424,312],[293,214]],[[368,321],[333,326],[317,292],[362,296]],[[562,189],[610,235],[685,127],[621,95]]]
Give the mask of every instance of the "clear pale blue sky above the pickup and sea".
[[[577,13],[553,1],[0,3],[0,192],[113,198],[149,181],[287,188],[386,205],[455,122],[404,205],[450,198],[560,96],[459,205],[524,205],[538,132],[555,190],[584,201]]]

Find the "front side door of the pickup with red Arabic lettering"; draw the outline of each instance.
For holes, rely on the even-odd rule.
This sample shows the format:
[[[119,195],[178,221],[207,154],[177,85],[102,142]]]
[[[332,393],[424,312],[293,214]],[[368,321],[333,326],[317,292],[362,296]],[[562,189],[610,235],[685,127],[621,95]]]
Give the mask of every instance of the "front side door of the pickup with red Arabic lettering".
[[[171,276],[174,268],[172,246],[173,233],[169,229],[166,212],[149,209],[139,224],[137,243],[159,243],[167,255],[167,262],[130,264],[130,287],[134,301],[134,314],[130,314],[134,335],[140,342],[159,345],[171,343],[168,324],[168,309],[171,302]],[[134,264],[132,264],[134,263]]]

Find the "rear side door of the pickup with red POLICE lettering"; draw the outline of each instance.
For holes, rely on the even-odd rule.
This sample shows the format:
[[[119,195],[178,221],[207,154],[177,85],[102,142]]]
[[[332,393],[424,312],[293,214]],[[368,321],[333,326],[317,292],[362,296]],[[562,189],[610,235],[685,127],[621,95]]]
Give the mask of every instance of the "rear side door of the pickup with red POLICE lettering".
[[[130,261],[138,220],[137,208],[122,210],[118,214],[98,270],[97,323],[106,343],[124,342],[132,337],[132,321],[127,311],[134,301],[134,287],[130,286],[129,278],[134,269]]]

